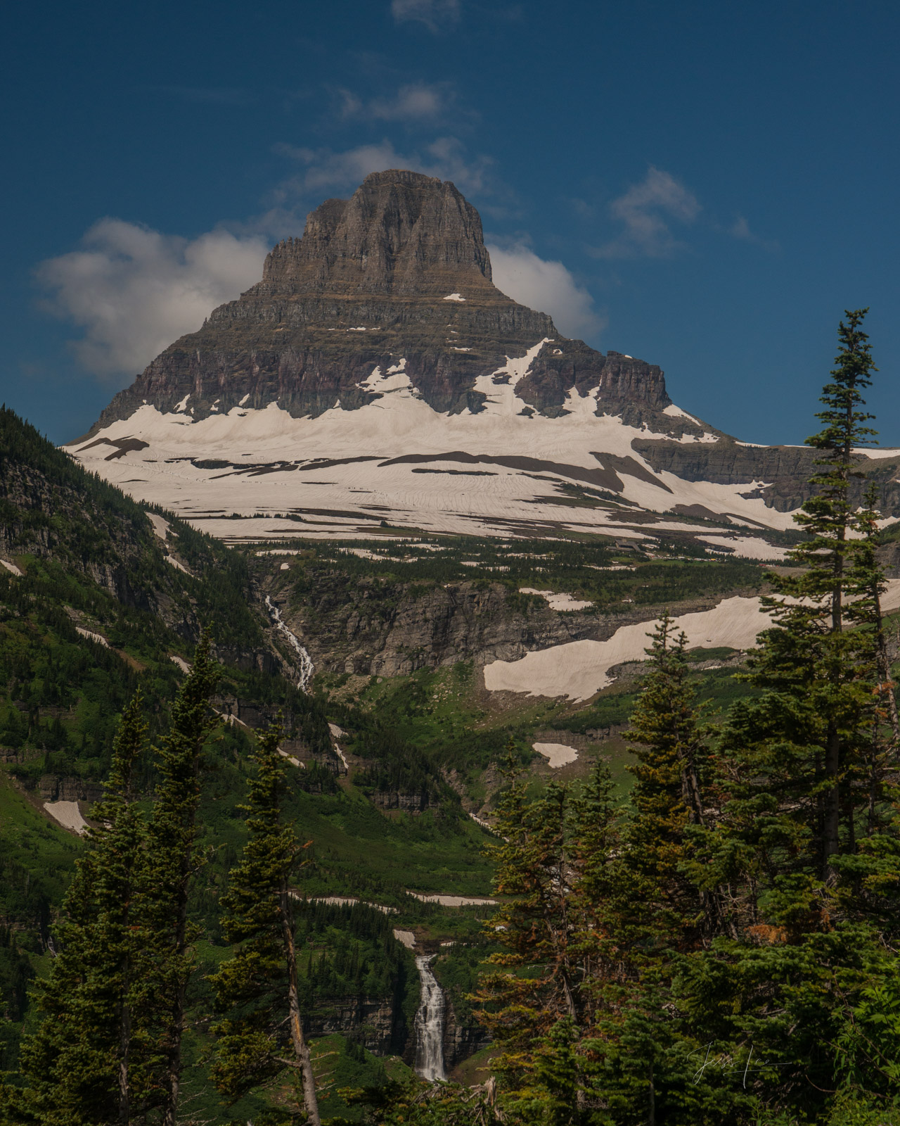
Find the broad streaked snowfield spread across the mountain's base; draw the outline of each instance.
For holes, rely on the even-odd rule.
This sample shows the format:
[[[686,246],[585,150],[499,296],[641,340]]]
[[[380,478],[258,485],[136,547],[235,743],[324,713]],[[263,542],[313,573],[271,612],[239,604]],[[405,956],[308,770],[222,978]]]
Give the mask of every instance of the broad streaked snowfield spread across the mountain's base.
[[[598,388],[584,396],[569,392],[559,418],[533,414],[515,388],[544,342],[478,376],[476,390],[487,401],[476,412],[432,410],[399,358],[361,382],[377,397],[359,410],[335,403],[318,418],[295,419],[272,402],[195,421],[188,396],[178,404],[181,410],[169,413],[145,403],[89,441],[65,448],[135,499],[162,504],[231,540],[371,536],[381,521],[497,536],[573,530],[647,538],[700,530],[673,513],[675,506],[720,513],[746,540],[753,539],[748,528],[792,526],[790,513],[744,495],[766,482],[722,485],[655,472],[631,446],[654,435],[618,415],[597,414]],[[667,412],[685,414],[677,408]],[[132,448],[140,443],[146,446]],[[110,453],[116,456],[107,461]],[[612,461],[604,463],[604,455]],[[226,464],[201,468],[198,461]],[[573,486],[593,490],[596,507],[583,501],[573,507]],[[647,522],[641,513],[636,527],[630,517],[637,508],[657,515]],[[233,513],[241,519],[230,519]],[[166,537],[161,518],[154,529]],[[749,544],[736,549],[748,554]]]

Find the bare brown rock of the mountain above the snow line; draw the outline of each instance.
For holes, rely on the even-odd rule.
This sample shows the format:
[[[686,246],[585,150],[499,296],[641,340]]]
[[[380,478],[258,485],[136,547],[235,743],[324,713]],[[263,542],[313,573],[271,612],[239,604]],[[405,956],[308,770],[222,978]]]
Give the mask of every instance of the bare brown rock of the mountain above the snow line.
[[[558,414],[573,387],[598,386],[603,409],[637,425],[669,404],[658,367],[565,340],[546,313],[497,289],[478,212],[452,184],[374,172],[351,199],[317,207],[302,239],[271,251],[262,280],[156,357],[94,430],[144,402],[170,411],[186,397],[195,420],[271,402],[295,418],[338,400],[353,410],[374,397],[360,386],[372,368],[399,357],[422,399],[456,413],[484,400],[479,374],[543,338],[519,385],[536,411]],[[695,429],[667,420],[685,427]]]

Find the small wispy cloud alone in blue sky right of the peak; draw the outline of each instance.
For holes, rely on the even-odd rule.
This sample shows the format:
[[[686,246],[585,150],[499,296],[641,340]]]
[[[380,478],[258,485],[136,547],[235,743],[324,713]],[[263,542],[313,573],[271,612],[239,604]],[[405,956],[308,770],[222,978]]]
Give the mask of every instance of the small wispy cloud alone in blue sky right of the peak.
[[[693,223],[700,212],[692,191],[651,166],[640,184],[632,184],[610,204],[610,214],[622,224],[621,234],[592,253],[596,258],[664,258],[684,245],[669,223]]]

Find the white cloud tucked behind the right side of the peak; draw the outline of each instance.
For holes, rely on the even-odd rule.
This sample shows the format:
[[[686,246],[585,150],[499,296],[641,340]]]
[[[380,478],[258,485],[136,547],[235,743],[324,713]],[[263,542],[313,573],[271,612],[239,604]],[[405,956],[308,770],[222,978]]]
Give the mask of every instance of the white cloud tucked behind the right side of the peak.
[[[507,297],[549,313],[567,337],[588,336],[604,328],[594,298],[562,262],[546,261],[521,242],[508,247],[488,244],[487,249],[494,284]]]

